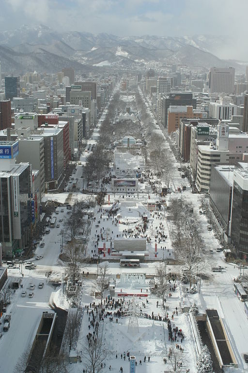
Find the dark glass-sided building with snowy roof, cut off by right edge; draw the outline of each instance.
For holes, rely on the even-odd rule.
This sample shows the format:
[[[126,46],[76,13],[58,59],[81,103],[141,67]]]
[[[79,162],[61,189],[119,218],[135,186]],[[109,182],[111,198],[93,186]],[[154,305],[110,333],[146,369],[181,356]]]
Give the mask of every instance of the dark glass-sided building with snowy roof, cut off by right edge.
[[[231,238],[233,248],[248,259],[248,163],[239,163],[233,172]]]

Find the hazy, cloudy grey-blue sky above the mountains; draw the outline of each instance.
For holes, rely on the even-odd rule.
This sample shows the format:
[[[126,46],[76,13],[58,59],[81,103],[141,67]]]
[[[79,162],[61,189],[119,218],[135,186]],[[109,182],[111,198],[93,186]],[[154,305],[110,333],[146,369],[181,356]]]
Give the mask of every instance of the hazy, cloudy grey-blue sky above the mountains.
[[[230,58],[248,54],[247,15],[248,0],[0,0],[0,30],[44,24],[120,36],[231,35]]]

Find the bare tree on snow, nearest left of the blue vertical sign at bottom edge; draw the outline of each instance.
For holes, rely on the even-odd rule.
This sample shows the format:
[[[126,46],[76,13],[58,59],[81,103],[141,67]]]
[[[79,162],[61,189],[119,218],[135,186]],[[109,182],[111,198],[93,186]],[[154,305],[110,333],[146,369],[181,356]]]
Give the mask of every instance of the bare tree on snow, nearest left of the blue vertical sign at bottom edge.
[[[104,349],[103,342],[103,326],[100,333],[98,328],[96,328],[95,335],[87,335],[83,350],[83,360],[89,373],[98,373],[103,370],[103,364],[108,357],[108,352]]]

